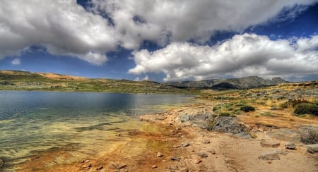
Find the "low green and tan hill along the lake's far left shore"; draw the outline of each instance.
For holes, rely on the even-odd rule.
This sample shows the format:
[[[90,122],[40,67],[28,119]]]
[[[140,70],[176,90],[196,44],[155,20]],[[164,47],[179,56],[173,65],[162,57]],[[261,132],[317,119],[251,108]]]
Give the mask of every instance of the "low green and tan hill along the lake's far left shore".
[[[196,94],[151,81],[90,79],[56,73],[0,70],[0,90]]]

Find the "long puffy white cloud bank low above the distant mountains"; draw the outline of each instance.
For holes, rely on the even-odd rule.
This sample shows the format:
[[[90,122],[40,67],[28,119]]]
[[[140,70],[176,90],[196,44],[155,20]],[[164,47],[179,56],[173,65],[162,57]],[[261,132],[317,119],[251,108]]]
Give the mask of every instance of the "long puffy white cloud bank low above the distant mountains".
[[[213,47],[173,42],[157,51],[134,51],[136,66],[129,73],[165,73],[164,81],[249,75],[289,78],[318,74],[317,49],[318,35],[292,42],[243,34]]]

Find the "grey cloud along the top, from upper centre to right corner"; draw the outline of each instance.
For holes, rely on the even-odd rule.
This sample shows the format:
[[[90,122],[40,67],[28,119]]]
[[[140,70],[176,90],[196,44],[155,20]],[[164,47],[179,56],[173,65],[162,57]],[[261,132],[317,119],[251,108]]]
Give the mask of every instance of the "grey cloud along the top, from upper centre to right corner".
[[[189,39],[205,42],[218,30],[240,32],[269,20],[295,18],[315,1],[92,0],[92,10],[107,13],[114,22],[122,45],[133,48],[144,39],[163,45]],[[279,15],[281,12],[285,15]]]

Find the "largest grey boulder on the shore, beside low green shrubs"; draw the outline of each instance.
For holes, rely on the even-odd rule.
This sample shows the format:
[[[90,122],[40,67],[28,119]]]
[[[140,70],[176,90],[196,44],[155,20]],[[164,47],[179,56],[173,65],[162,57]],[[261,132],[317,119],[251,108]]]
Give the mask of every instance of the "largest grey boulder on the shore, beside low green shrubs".
[[[238,133],[249,135],[249,128],[242,123],[239,118],[229,116],[218,116],[214,118],[212,130],[230,133],[233,135]]]

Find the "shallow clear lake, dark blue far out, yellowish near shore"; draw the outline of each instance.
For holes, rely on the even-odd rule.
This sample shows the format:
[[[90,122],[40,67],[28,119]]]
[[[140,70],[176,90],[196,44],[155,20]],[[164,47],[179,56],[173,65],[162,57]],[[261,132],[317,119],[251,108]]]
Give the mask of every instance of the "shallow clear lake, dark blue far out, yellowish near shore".
[[[117,133],[142,128],[136,116],[191,104],[192,97],[0,91],[0,159],[7,171],[14,171],[37,152],[54,148],[72,149],[68,161],[105,154],[126,141]]]

